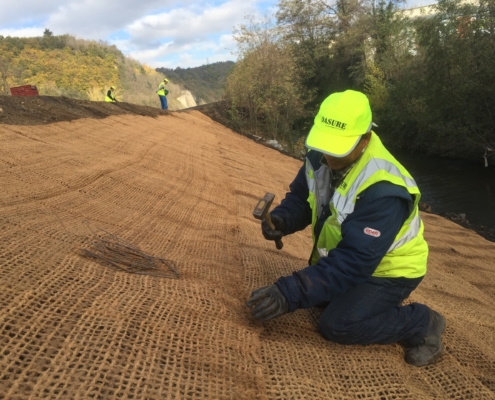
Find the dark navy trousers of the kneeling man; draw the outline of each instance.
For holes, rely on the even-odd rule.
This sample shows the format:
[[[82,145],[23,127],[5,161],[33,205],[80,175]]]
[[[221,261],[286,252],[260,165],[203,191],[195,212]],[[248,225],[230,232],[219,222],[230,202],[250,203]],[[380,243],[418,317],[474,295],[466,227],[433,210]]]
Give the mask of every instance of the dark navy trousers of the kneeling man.
[[[422,279],[371,277],[326,306],[321,334],[341,344],[418,344],[428,330],[430,309],[419,303],[400,304]]]

